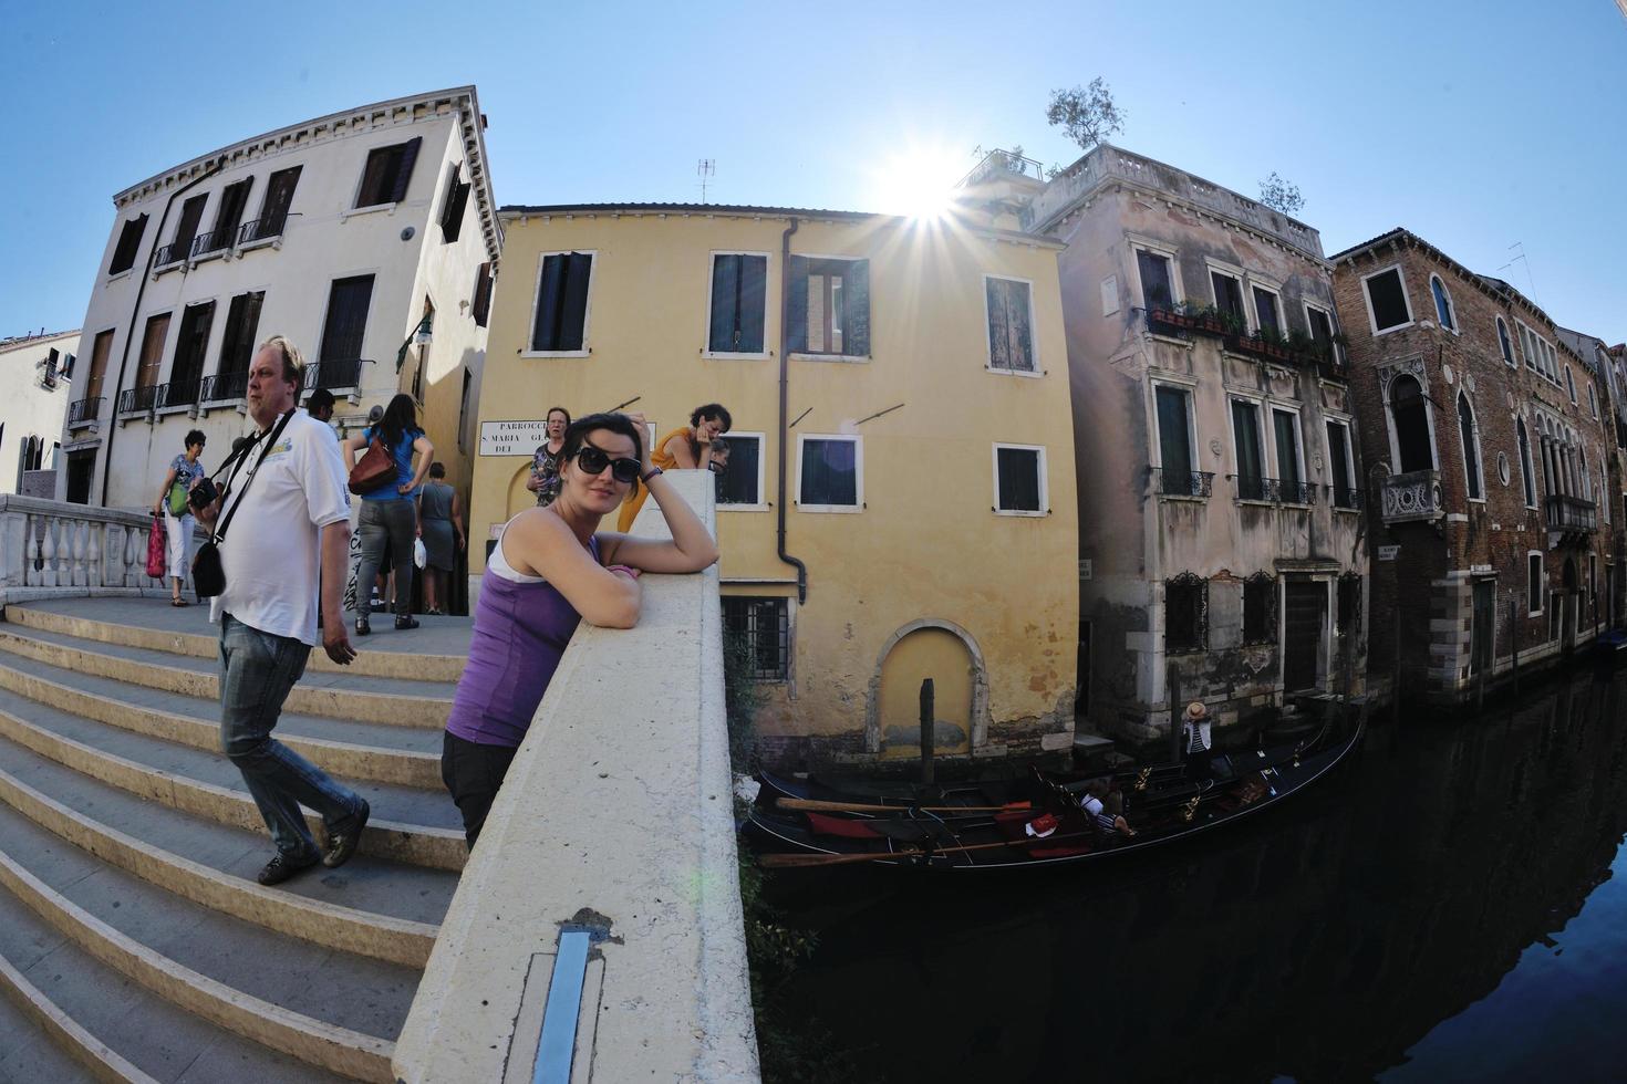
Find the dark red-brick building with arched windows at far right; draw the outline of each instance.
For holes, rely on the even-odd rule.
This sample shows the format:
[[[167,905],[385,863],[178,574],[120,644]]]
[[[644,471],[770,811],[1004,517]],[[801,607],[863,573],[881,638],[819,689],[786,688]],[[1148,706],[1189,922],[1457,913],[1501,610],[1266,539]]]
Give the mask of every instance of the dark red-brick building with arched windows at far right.
[[[1331,260],[1372,470],[1375,673],[1399,658],[1406,691],[1461,700],[1482,671],[1593,639],[1616,577],[1593,366],[1520,291],[1406,229]]]

